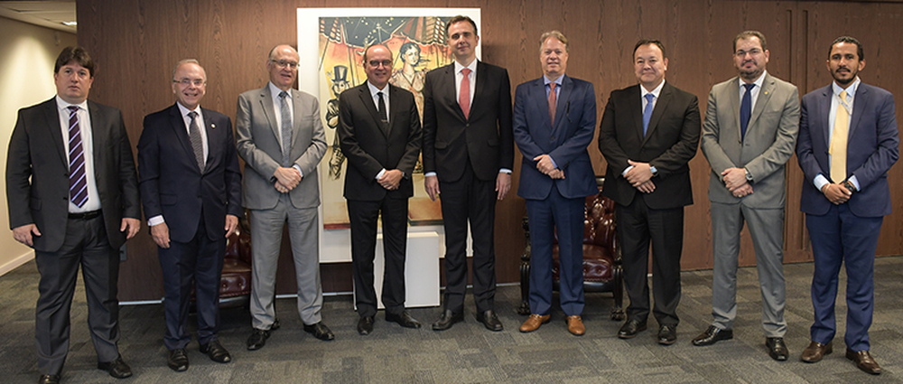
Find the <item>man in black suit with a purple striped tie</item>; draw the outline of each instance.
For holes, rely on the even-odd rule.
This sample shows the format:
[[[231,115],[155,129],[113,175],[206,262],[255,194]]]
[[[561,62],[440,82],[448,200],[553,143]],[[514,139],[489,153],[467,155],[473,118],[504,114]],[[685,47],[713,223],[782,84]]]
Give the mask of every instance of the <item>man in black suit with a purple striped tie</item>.
[[[94,81],[88,52],[63,49],[53,80],[55,98],[19,110],[6,157],[10,229],[34,248],[41,274],[34,321],[39,382],[60,382],[79,267],[98,369],[127,378],[132,370],[116,346],[116,284],[118,249],[141,227],[132,145],[122,113],[88,101]]]

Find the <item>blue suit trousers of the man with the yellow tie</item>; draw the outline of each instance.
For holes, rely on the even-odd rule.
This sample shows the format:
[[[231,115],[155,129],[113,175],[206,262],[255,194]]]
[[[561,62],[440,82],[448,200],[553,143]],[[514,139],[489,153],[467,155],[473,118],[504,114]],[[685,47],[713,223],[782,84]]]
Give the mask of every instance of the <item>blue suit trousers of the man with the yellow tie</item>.
[[[821,216],[805,215],[805,228],[812,239],[815,259],[812,276],[815,322],[809,329],[812,341],[826,344],[834,338],[837,274],[844,264],[847,321],[843,342],[852,351],[869,351],[869,327],[875,306],[875,251],[883,220],[883,217],[857,217],[849,204],[832,205]]]

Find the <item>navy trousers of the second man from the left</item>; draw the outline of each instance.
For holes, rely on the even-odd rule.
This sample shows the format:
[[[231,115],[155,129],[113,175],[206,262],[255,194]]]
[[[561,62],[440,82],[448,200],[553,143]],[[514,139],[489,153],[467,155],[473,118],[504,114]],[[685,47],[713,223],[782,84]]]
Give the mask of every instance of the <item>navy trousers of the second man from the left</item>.
[[[198,310],[198,342],[217,340],[219,332],[219,280],[226,253],[225,232],[209,239],[204,214],[201,211],[198,231],[188,242],[170,241],[170,248],[157,248],[163,269],[163,310],[166,314],[166,333],[163,345],[178,350],[188,346],[188,311],[191,287],[194,287]]]

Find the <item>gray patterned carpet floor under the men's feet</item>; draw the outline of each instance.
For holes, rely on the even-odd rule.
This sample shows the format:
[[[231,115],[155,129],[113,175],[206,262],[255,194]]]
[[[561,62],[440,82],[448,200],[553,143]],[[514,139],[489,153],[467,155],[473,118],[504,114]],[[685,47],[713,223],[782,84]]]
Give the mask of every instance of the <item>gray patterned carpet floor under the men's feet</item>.
[[[233,361],[219,364],[189,347],[191,368],[176,373],[166,366],[163,347],[163,308],[158,304],[125,306],[120,313],[120,351],[135,376],[116,380],[97,370],[90,342],[87,305],[79,280],[71,311],[70,353],[64,383],[858,383],[903,380],[903,257],[880,258],[875,265],[875,316],[871,353],[884,373],[870,376],[843,357],[845,278],[841,276],[837,313],[839,332],[834,353],[816,364],[798,360],[809,342],[812,304],[809,284],[812,264],[785,267],[787,276],[786,340],[789,361],[768,358],[760,325],[760,292],[754,267],[738,272],[738,319],[734,339],[709,347],[690,340],[711,322],[712,272],[685,272],[682,317],[677,343],[656,343],[657,325],[631,340],[616,336],[620,323],[609,319],[609,294],[588,294],[583,319],[587,332],[567,332],[561,311],[552,323],[532,333],[517,332],[525,319],[515,313],[519,286],[501,286],[496,295],[503,332],[489,332],[473,318],[473,301],[466,302],[464,323],[451,330],[429,329],[438,308],[414,309],[424,323],[419,330],[386,323],[377,314],[375,331],[358,336],[358,320],[350,295],[324,300],[323,318],[336,335],[321,342],[303,332],[293,299],[279,299],[276,311],[282,328],[265,347],[247,351],[250,332],[247,309],[222,312],[219,339]],[[33,262],[0,276],[0,382],[31,383],[38,377],[34,347],[34,303],[38,275]],[[556,295],[557,300],[557,295]],[[626,299],[625,299],[626,301]],[[194,318],[191,318],[194,322]]]

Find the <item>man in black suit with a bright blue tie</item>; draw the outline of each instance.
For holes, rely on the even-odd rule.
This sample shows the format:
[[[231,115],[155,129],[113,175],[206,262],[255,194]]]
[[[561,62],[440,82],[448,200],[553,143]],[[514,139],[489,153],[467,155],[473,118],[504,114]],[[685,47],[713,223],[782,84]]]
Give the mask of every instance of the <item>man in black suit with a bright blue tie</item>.
[[[602,193],[617,203],[630,297],[618,337],[630,339],[646,329],[651,241],[658,343],[671,345],[679,323],[684,206],[693,204],[687,163],[699,145],[699,104],[696,96],[665,81],[668,59],[661,42],[640,40],[633,59],[639,84],[611,92],[599,126],[599,150],[608,162]]]

